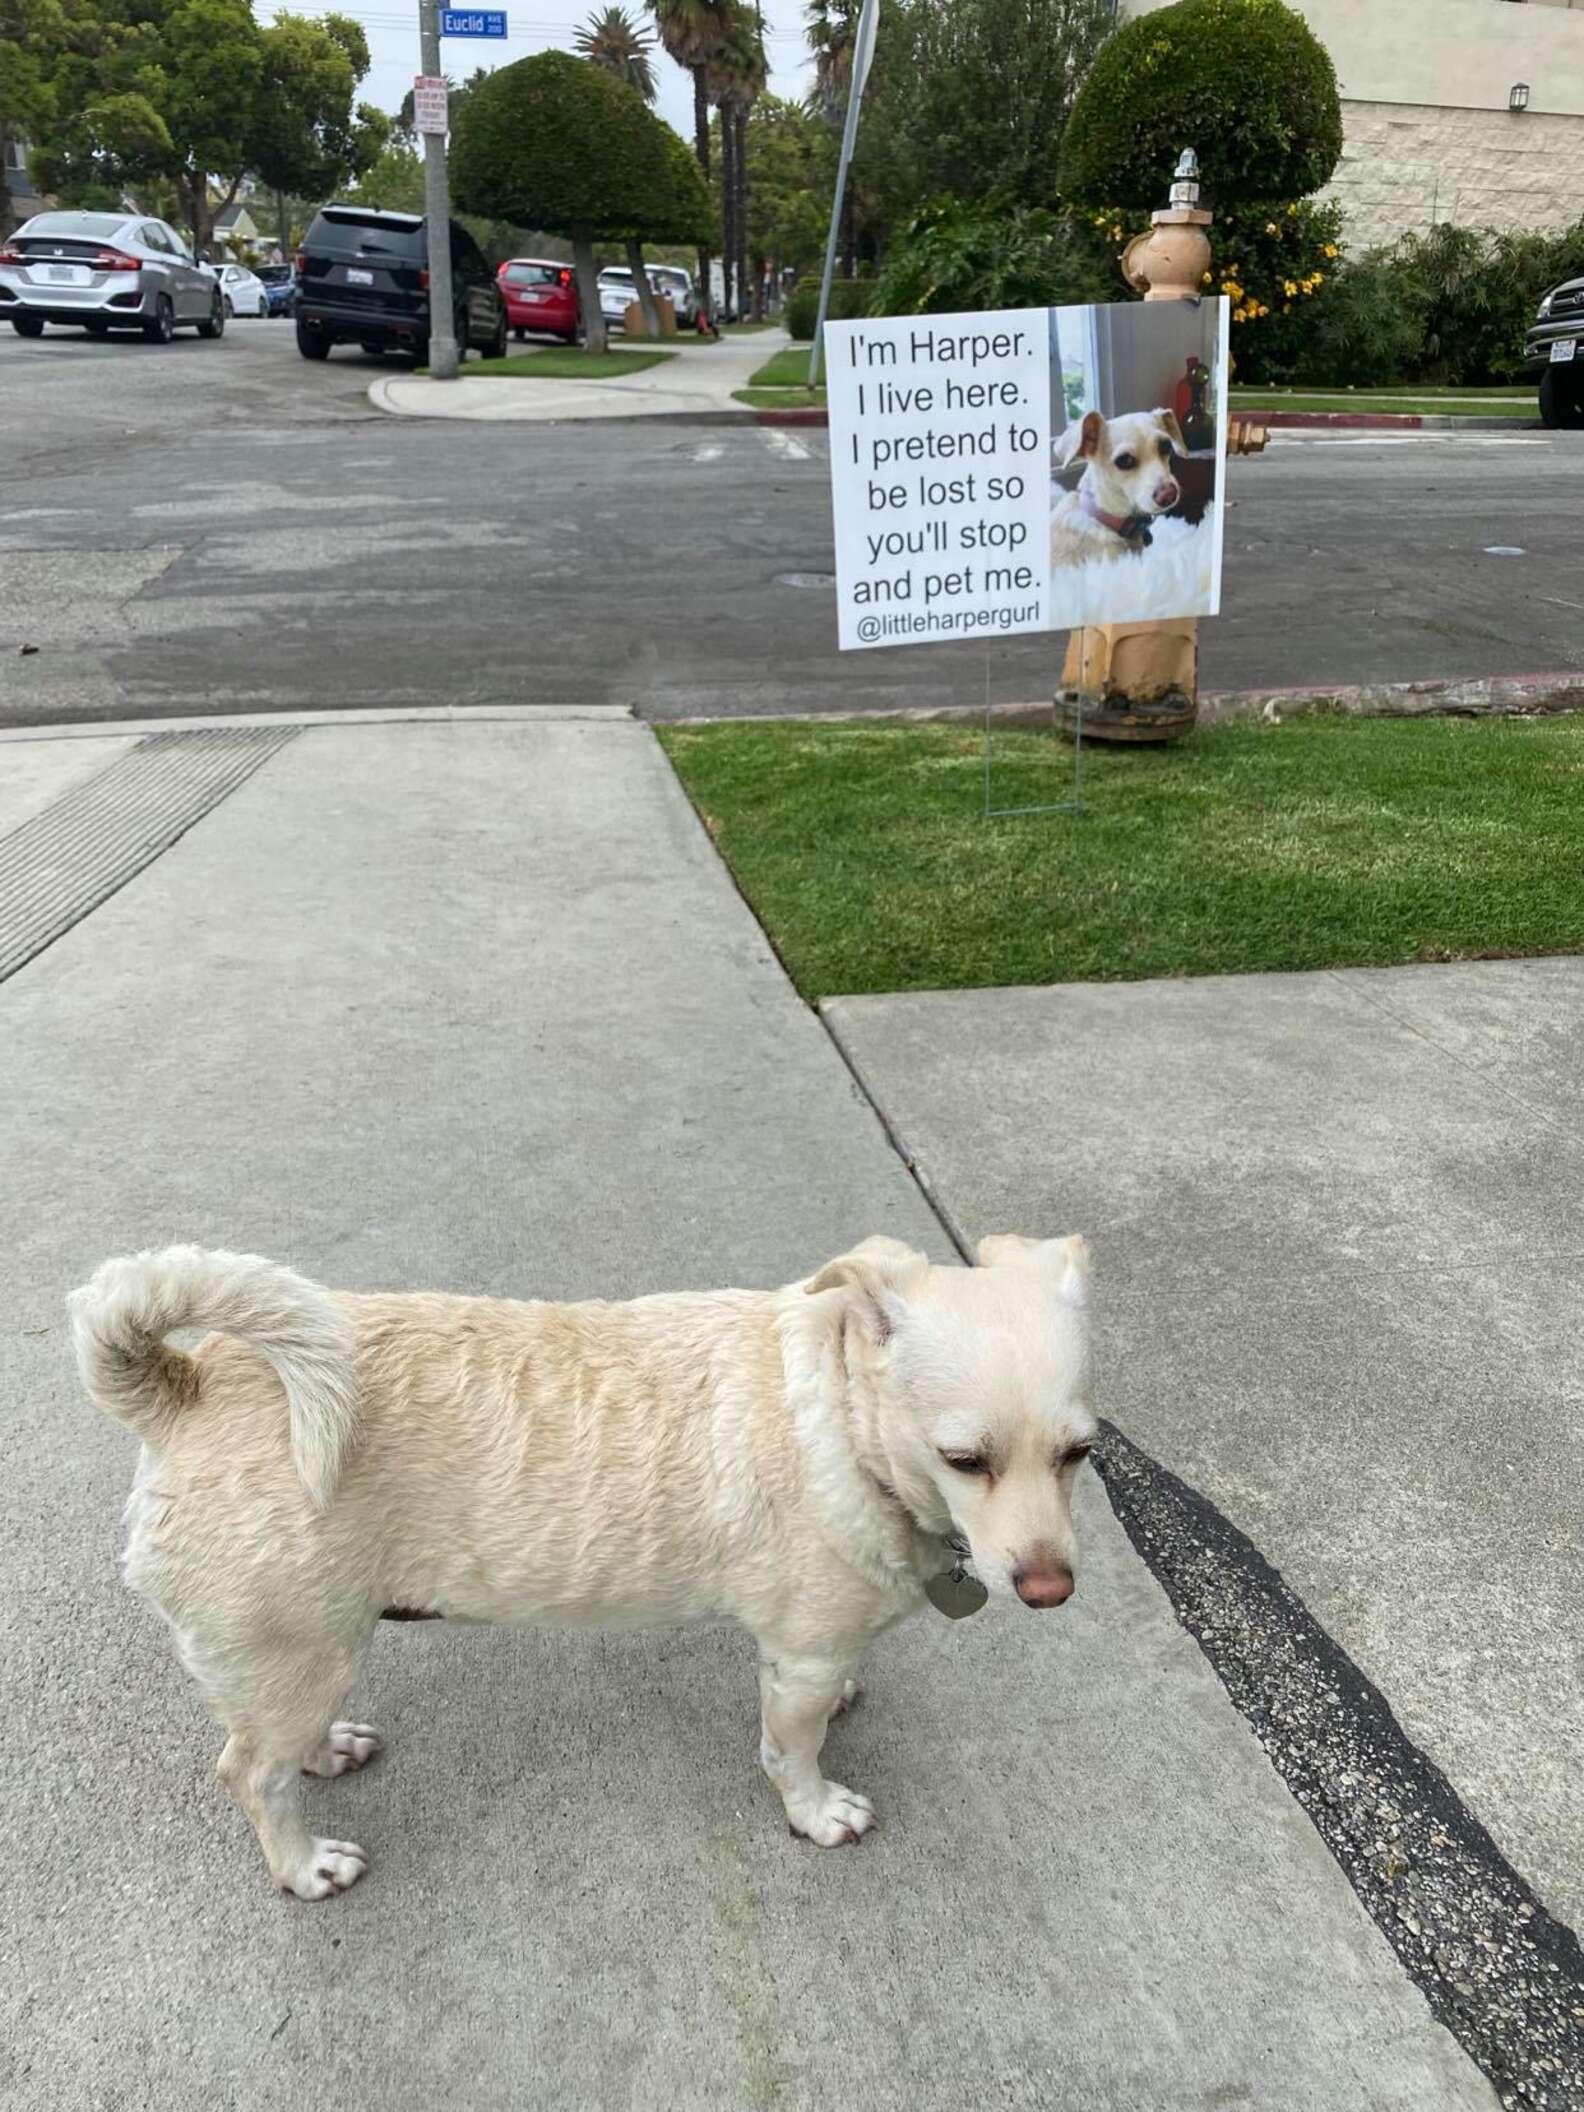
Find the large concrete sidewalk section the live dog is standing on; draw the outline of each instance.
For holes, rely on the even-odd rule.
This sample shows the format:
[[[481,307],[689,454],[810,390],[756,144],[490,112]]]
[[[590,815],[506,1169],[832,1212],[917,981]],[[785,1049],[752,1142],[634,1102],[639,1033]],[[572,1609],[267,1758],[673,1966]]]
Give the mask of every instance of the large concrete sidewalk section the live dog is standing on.
[[[84,775],[144,750],[30,748],[0,849],[55,815],[70,879]],[[1491,2112],[1092,1478],[1060,1620],[874,1652],[862,1852],[786,1837],[739,1635],[435,1624],[355,1696],[386,1757],[308,1791],[370,1878],[270,1892],[118,1584],[68,1286],[169,1238],[551,1297],[950,1257],[646,729],[302,731],[0,984],[0,1039],[6,2106]]]

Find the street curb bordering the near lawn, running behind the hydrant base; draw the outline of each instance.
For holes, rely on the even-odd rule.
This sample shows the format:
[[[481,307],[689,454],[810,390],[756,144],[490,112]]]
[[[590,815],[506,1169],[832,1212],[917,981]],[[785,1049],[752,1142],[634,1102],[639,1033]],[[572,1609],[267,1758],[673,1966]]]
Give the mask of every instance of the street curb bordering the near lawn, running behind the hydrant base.
[[[1552,718],[1563,712],[1584,712],[1584,674],[1497,674],[1447,676],[1426,682],[1299,682],[1288,689],[1206,689],[1200,691],[1200,724],[1219,727],[1229,718],[1307,718],[1316,712],[1341,712],[1352,718]],[[817,724],[982,724],[982,703],[919,703],[860,705],[853,712],[739,712],[691,714],[686,718],[655,718],[653,727],[752,727],[756,722],[798,718]],[[1020,703],[991,705],[997,727],[1050,727],[1052,699],[1035,697]]]

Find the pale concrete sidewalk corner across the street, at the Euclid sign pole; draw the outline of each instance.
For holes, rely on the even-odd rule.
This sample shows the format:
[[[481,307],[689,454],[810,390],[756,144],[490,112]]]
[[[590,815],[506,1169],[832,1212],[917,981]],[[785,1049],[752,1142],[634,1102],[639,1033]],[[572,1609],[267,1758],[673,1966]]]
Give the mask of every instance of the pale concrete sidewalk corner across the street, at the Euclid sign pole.
[[[659,365],[598,382],[492,380],[486,363],[469,361],[454,382],[433,382],[427,374],[380,374],[370,382],[367,399],[395,418],[560,425],[568,418],[691,416],[752,425],[754,412],[737,403],[733,391],[746,389],[750,374],[790,342],[784,329],[754,329],[716,344],[678,340]]]

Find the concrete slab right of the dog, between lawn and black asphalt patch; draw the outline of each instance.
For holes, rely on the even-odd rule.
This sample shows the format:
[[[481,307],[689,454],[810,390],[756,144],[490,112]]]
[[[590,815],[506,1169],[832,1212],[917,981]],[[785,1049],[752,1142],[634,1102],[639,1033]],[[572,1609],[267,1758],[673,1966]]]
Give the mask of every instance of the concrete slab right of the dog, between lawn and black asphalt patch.
[[[824,1012],[963,1240],[1092,1236],[1111,1413],[1250,1535],[1466,1806],[1381,1886],[1407,1956],[1432,1998],[1516,2017],[1525,1968],[1497,1951],[1533,1909],[1506,1859],[1567,1924],[1584,2093],[1584,959]],[[1324,1745],[1295,1755],[1312,1776]],[[1464,1897],[1434,1875],[1459,1827]],[[1364,1886],[1379,1833],[1373,1810],[1339,1827]],[[1476,1865],[1506,1892],[1487,1990]]]

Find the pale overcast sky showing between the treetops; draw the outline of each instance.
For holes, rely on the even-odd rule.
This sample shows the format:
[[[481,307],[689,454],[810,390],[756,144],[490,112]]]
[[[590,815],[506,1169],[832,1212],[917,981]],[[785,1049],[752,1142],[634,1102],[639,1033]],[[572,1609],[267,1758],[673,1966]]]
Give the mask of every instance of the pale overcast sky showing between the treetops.
[[[380,110],[395,110],[412,87],[418,68],[418,6],[380,4],[361,0],[357,6],[342,6],[340,0],[325,0],[338,15],[351,15],[367,32],[370,55],[374,59],[359,97],[378,103]],[[600,13],[606,0],[600,0]],[[765,8],[765,55],[771,61],[771,93],[800,97],[809,93],[809,46],[803,38],[803,0],[762,0]],[[260,4],[260,15],[272,15],[268,4]],[[294,13],[315,13],[308,0],[298,0]],[[507,0],[505,38],[448,36],[439,46],[441,72],[452,80],[463,80],[475,65],[509,65],[526,59],[532,51],[570,51],[579,25],[596,13],[593,0]],[[648,19],[642,0],[627,0],[627,13],[640,21]],[[655,72],[659,76],[659,114],[674,125],[684,139],[693,139],[693,80],[674,65],[659,46],[655,49]]]

